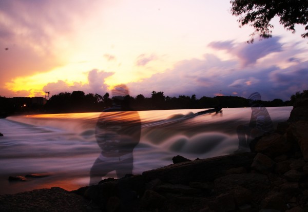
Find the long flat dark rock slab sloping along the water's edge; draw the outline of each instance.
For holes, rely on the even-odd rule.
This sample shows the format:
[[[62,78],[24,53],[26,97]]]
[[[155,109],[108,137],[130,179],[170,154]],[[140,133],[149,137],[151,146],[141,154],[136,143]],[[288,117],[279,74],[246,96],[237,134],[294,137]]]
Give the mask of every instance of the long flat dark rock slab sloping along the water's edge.
[[[252,152],[237,153],[216,158],[171,164],[162,168],[143,172],[146,182],[160,179],[173,184],[188,184],[192,181],[208,182],[224,176],[226,170],[236,167],[249,169],[255,154]]]

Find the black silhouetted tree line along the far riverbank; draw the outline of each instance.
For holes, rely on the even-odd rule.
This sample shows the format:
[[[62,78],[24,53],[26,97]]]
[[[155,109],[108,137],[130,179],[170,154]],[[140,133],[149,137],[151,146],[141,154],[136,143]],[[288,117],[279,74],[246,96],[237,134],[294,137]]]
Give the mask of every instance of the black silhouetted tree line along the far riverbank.
[[[299,97],[308,97],[308,91],[296,92],[290,101],[274,99],[261,101],[265,107],[293,106]],[[45,105],[14,105],[13,98],[0,97],[0,117],[13,113],[69,113],[69,112],[99,112],[114,104],[121,104],[123,110],[167,110],[167,109],[198,109],[215,107],[249,107],[249,101],[236,96],[217,96],[196,98],[196,95],[179,95],[179,97],[165,97],[162,91],[152,91],[151,97],[143,94],[136,98],[127,95],[121,101],[117,97],[110,98],[109,93],[103,96],[98,93],[85,94],[83,91],[62,92],[53,95]]]

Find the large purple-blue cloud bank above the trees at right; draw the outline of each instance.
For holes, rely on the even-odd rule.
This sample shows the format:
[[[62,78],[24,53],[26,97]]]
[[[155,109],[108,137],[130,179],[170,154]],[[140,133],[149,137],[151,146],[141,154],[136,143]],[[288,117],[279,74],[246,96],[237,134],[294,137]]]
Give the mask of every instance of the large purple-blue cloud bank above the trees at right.
[[[130,83],[131,95],[142,93],[150,96],[151,91],[156,90],[164,91],[169,97],[196,94],[197,98],[201,98],[214,97],[222,90],[223,95],[236,94],[248,98],[249,94],[258,91],[263,100],[288,100],[296,91],[307,89],[308,62],[303,61],[305,58],[301,56],[306,50],[302,46],[281,45],[279,37],[272,39],[253,45],[212,43],[211,47],[219,49],[233,45],[233,49],[227,49],[229,52],[238,53],[242,49],[247,55],[242,52],[238,53],[237,59],[222,61],[214,54],[205,54],[203,59],[179,61],[164,73],[154,74],[142,82]],[[292,56],[297,60],[290,62]],[[262,63],[256,63],[261,58]]]

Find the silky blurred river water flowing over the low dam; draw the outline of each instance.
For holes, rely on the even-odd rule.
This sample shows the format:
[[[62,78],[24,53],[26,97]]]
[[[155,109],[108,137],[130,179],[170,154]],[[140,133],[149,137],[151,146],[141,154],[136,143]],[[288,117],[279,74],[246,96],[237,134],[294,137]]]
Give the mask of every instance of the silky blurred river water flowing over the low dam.
[[[267,108],[274,126],[286,121],[292,107]],[[233,153],[236,127],[247,124],[251,108],[223,108],[220,113],[193,115],[202,109],[139,111],[141,139],[133,150],[133,174],[172,163]],[[0,194],[59,186],[66,190],[89,184],[89,170],[101,149],[95,125],[101,113],[20,115],[0,119]],[[9,181],[9,176],[42,174],[44,178]],[[107,176],[116,178],[115,171]],[[103,178],[103,179],[104,179]]]

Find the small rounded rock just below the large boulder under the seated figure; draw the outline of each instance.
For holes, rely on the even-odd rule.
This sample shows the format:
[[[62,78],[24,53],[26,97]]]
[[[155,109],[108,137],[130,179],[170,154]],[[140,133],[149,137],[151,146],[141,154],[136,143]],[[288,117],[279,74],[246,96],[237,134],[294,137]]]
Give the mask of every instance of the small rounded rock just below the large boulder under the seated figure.
[[[266,155],[263,155],[262,153],[257,154],[252,164],[252,168],[261,173],[268,173],[272,171],[274,167],[275,167],[275,162]]]

